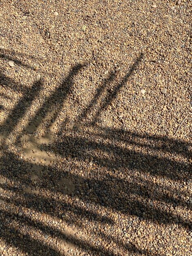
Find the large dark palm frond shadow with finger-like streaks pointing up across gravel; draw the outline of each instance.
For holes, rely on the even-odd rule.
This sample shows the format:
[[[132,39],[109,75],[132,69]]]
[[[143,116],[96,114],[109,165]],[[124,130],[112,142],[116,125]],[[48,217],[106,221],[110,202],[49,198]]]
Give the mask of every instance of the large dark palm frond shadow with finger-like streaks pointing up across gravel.
[[[1,175],[9,180],[9,182],[1,184],[1,189],[5,192],[11,191],[14,195],[14,197],[6,198],[6,193],[8,193],[6,192],[1,195],[2,201],[5,201],[7,205],[12,204],[13,208],[27,208],[30,211],[43,212],[52,217],[62,218],[68,227],[74,229],[85,230],[85,220],[87,220],[88,222],[94,221],[97,225],[111,225],[111,232],[113,232],[116,227],[115,220],[110,216],[98,213],[97,207],[112,209],[112,211],[123,213],[127,217],[132,216],[137,220],[148,220],[159,223],[159,225],[176,224],[188,231],[192,228],[192,222],[187,216],[182,216],[181,213],[175,215],[173,211],[178,206],[184,209],[191,206],[190,200],[186,198],[187,193],[173,191],[172,186],[167,188],[164,182],[156,183],[158,177],[161,177],[162,181],[168,179],[173,182],[190,182],[190,162],[175,159],[172,154],[176,153],[188,159],[192,144],[169,137],[139,134],[123,129],[102,128],[96,125],[100,113],[107,108],[117,96],[118,91],[127,83],[129,76],[138,67],[142,57],[141,54],[136,59],[134,65],[112,91],[109,91],[108,87],[113,83],[116,73],[110,73],[89,106],[78,116],[78,120],[83,121],[87,113],[92,114],[98,100],[103,97],[105,100],[95,111],[92,122],[85,121],[84,123],[85,128],[92,126],[96,132],[90,134],[90,132],[86,132],[86,129],[79,131],[72,128],[69,135],[63,136],[66,119],[63,122],[63,127],[60,127],[58,131],[57,139],[48,139],[46,143],[34,143],[36,149],[40,148],[38,153],[49,151],[55,155],[53,163],[50,161],[49,164],[46,162],[42,164],[41,162],[36,163],[35,159],[25,159],[27,151],[20,158],[17,152],[8,149],[6,144],[1,145],[3,151],[0,158]],[[62,102],[64,103],[74,89],[74,77],[83,66],[80,64],[74,66],[63,82],[44,101],[35,117],[32,117],[29,125],[26,126],[27,132],[23,132],[17,137],[16,146],[22,148],[22,137],[28,134],[31,128],[30,124],[35,124],[30,130],[30,135],[32,135],[30,137],[35,136],[34,132],[44,121],[48,109],[56,110],[54,120],[58,117],[63,109]],[[3,79],[6,81],[5,76]],[[27,111],[25,103],[28,103],[29,108],[41,89],[40,82],[34,83],[28,92],[23,93],[22,98],[9,113],[2,126],[2,131],[6,130],[5,138],[13,132],[20,119],[25,116]],[[103,96],[104,92],[105,97]],[[27,139],[30,140],[29,137]],[[99,140],[100,142],[98,142]],[[136,151],[133,147],[140,147],[142,150]],[[169,157],[165,157],[165,153],[169,153]],[[90,173],[89,176],[82,177],[80,173],[73,171],[73,168],[74,170],[82,168],[81,164],[83,164],[84,171]],[[71,169],[67,170],[69,165]],[[138,172],[138,175],[135,175],[135,171]],[[34,183],[32,176],[37,178],[38,182]],[[71,181],[67,188],[69,191],[61,185],[62,180]],[[74,189],[71,190],[71,187]],[[48,193],[47,196],[44,194],[45,191]],[[50,195],[56,195],[56,198]],[[70,203],[70,199],[74,197],[83,202],[82,207],[80,204]],[[160,207],[155,201],[160,202]],[[95,208],[92,209],[89,205],[93,205]],[[166,206],[163,208],[163,205]],[[7,209],[9,210],[2,210],[0,218],[3,231],[1,236],[9,245],[18,246],[30,255],[37,255],[37,253],[38,255],[64,255],[55,246],[51,247],[46,242],[47,240],[42,243],[42,241],[30,237],[28,233],[24,235],[22,229],[10,229],[9,223],[14,219],[16,213],[11,211],[10,206]],[[5,219],[7,222],[4,222]],[[21,227],[26,225],[29,229],[31,227],[40,230],[42,234],[48,232],[50,236],[54,235],[57,239],[69,240],[76,248],[81,248],[84,252],[88,250],[89,253],[92,252],[96,255],[116,255],[112,249],[104,249],[102,245],[94,247],[91,243],[69,236],[58,228],[53,229],[50,223],[45,225],[43,222],[34,222],[29,215],[25,214],[15,220]],[[90,229],[89,232],[95,236],[94,229]],[[116,241],[107,233],[99,232],[103,241]],[[135,252],[136,254],[154,255],[150,249],[149,251],[142,250],[133,243],[121,244],[116,241],[116,244],[123,247],[127,254]],[[160,254],[156,255],[160,256]]]

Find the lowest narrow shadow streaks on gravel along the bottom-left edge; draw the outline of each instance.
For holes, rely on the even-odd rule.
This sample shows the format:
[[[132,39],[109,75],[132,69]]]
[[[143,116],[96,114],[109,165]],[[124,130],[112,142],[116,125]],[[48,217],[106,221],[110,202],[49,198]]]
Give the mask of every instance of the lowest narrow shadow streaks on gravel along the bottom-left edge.
[[[10,214],[9,211],[3,211],[3,215],[13,219],[13,216]],[[58,240],[67,245],[67,242],[73,243],[74,248],[78,249],[83,249],[85,252],[92,252],[94,255],[102,255],[102,256],[115,256],[115,252],[111,252],[111,250],[103,249],[101,246],[93,246],[89,243],[89,241],[85,240],[80,240],[76,238],[74,235],[67,234],[67,232],[60,231],[57,228],[54,228],[53,226],[48,226],[47,223],[44,222],[35,222],[33,218],[29,218],[28,216],[23,216],[21,218],[18,218],[18,224],[19,227],[10,229],[7,225],[6,222],[3,223],[3,229],[7,230],[7,243],[11,246],[18,246],[18,243],[20,244],[20,250],[22,252],[28,252],[30,255],[68,255],[63,253],[63,250],[60,250],[58,252],[57,249],[54,248],[54,244],[50,245],[49,243],[42,243],[38,237],[36,238],[31,238],[30,237],[30,232],[26,231],[25,235],[23,235],[22,231],[22,226],[26,225],[27,227],[30,227],[35,230],[40,230],[39,236],[42,234],[42,236],[45,236],[47,234],[48,237],[52,237],[55,235]],[[105,236],[105,234],[101,234],[102,236]],[[105,236],[106,237],[106,236]],[[108,240],[108,243],[110,244],[111,241],[116,241],[116,238],[112,236],[107,236],[106,238]],[[122,247],[123,243],[117,242],[116,241],[116,246],[118,248]],[[138,253],[143,253],[147,256],[152,255],[152,250],[146,250],[146,249],[140,249],[134,243],[127,243],[124,245],[126,249],[126,253],[129,254],[130,252],[136,252]],[[160,256],[161,254],[156,254],[157,256]],[[162,255],[161,255],[162,256]]]

